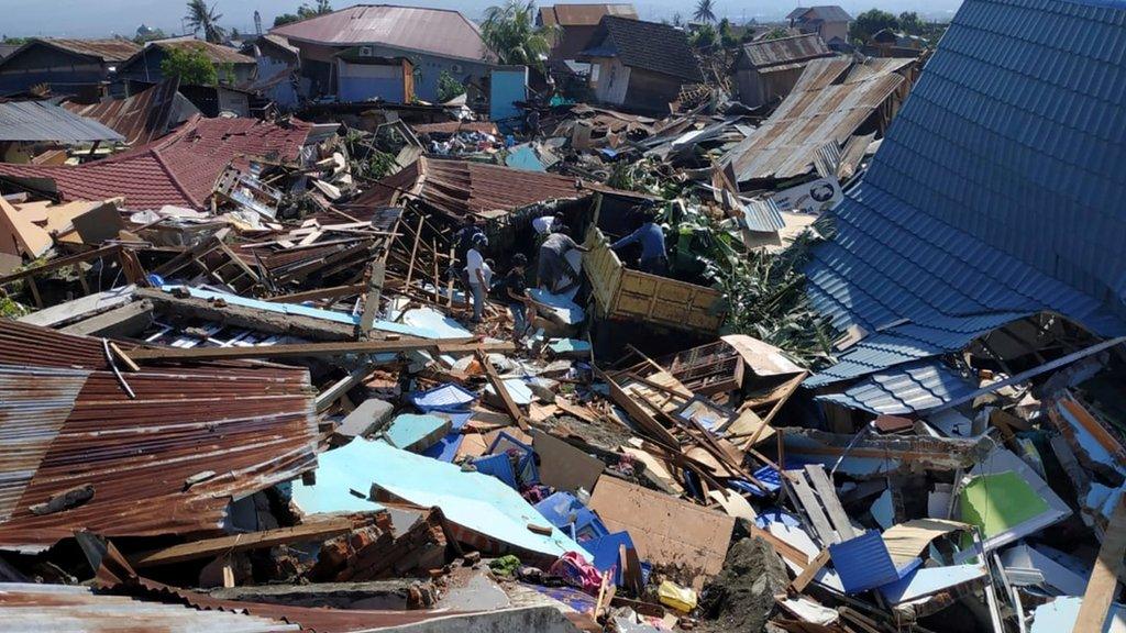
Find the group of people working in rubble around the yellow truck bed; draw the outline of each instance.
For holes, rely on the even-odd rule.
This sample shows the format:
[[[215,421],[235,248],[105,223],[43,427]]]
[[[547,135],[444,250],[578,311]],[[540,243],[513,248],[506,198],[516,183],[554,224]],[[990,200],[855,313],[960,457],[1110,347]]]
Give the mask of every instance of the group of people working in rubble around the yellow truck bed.
[[[664,249],[664,230],[656,223],[655,215],[649,208],[636,209],[635,217],[640,225],[631,234],[610,244],[618,250],[631,244],[641,247],[638,269],[653,275],[664,275],[668,271],[668,256]],[[570,228],[562,214],[537,217],[533,228],[542,237],[536,264],[536,286],[549,293],[565,292],[578,283],[573,277],[574,269],[568,262],[568,253],[572,250],[589,252],[590,248],[575,242],[570,235]],[[531,319],[535,316],[535,302],[528,293],[527,266],[528,258],[516,253],[511,258],[508,273],[493,284],[495,264],[483,255],[489,246],[489,238],[481,225],[473,220],[454,235],[458,261],[465,266],[459,277],[466,284],[466,306],[473,302],[473,323],[481,322],[488,296],[493,296],[508,306],[512,315],[513,338],[520,341],[527,333]]]

